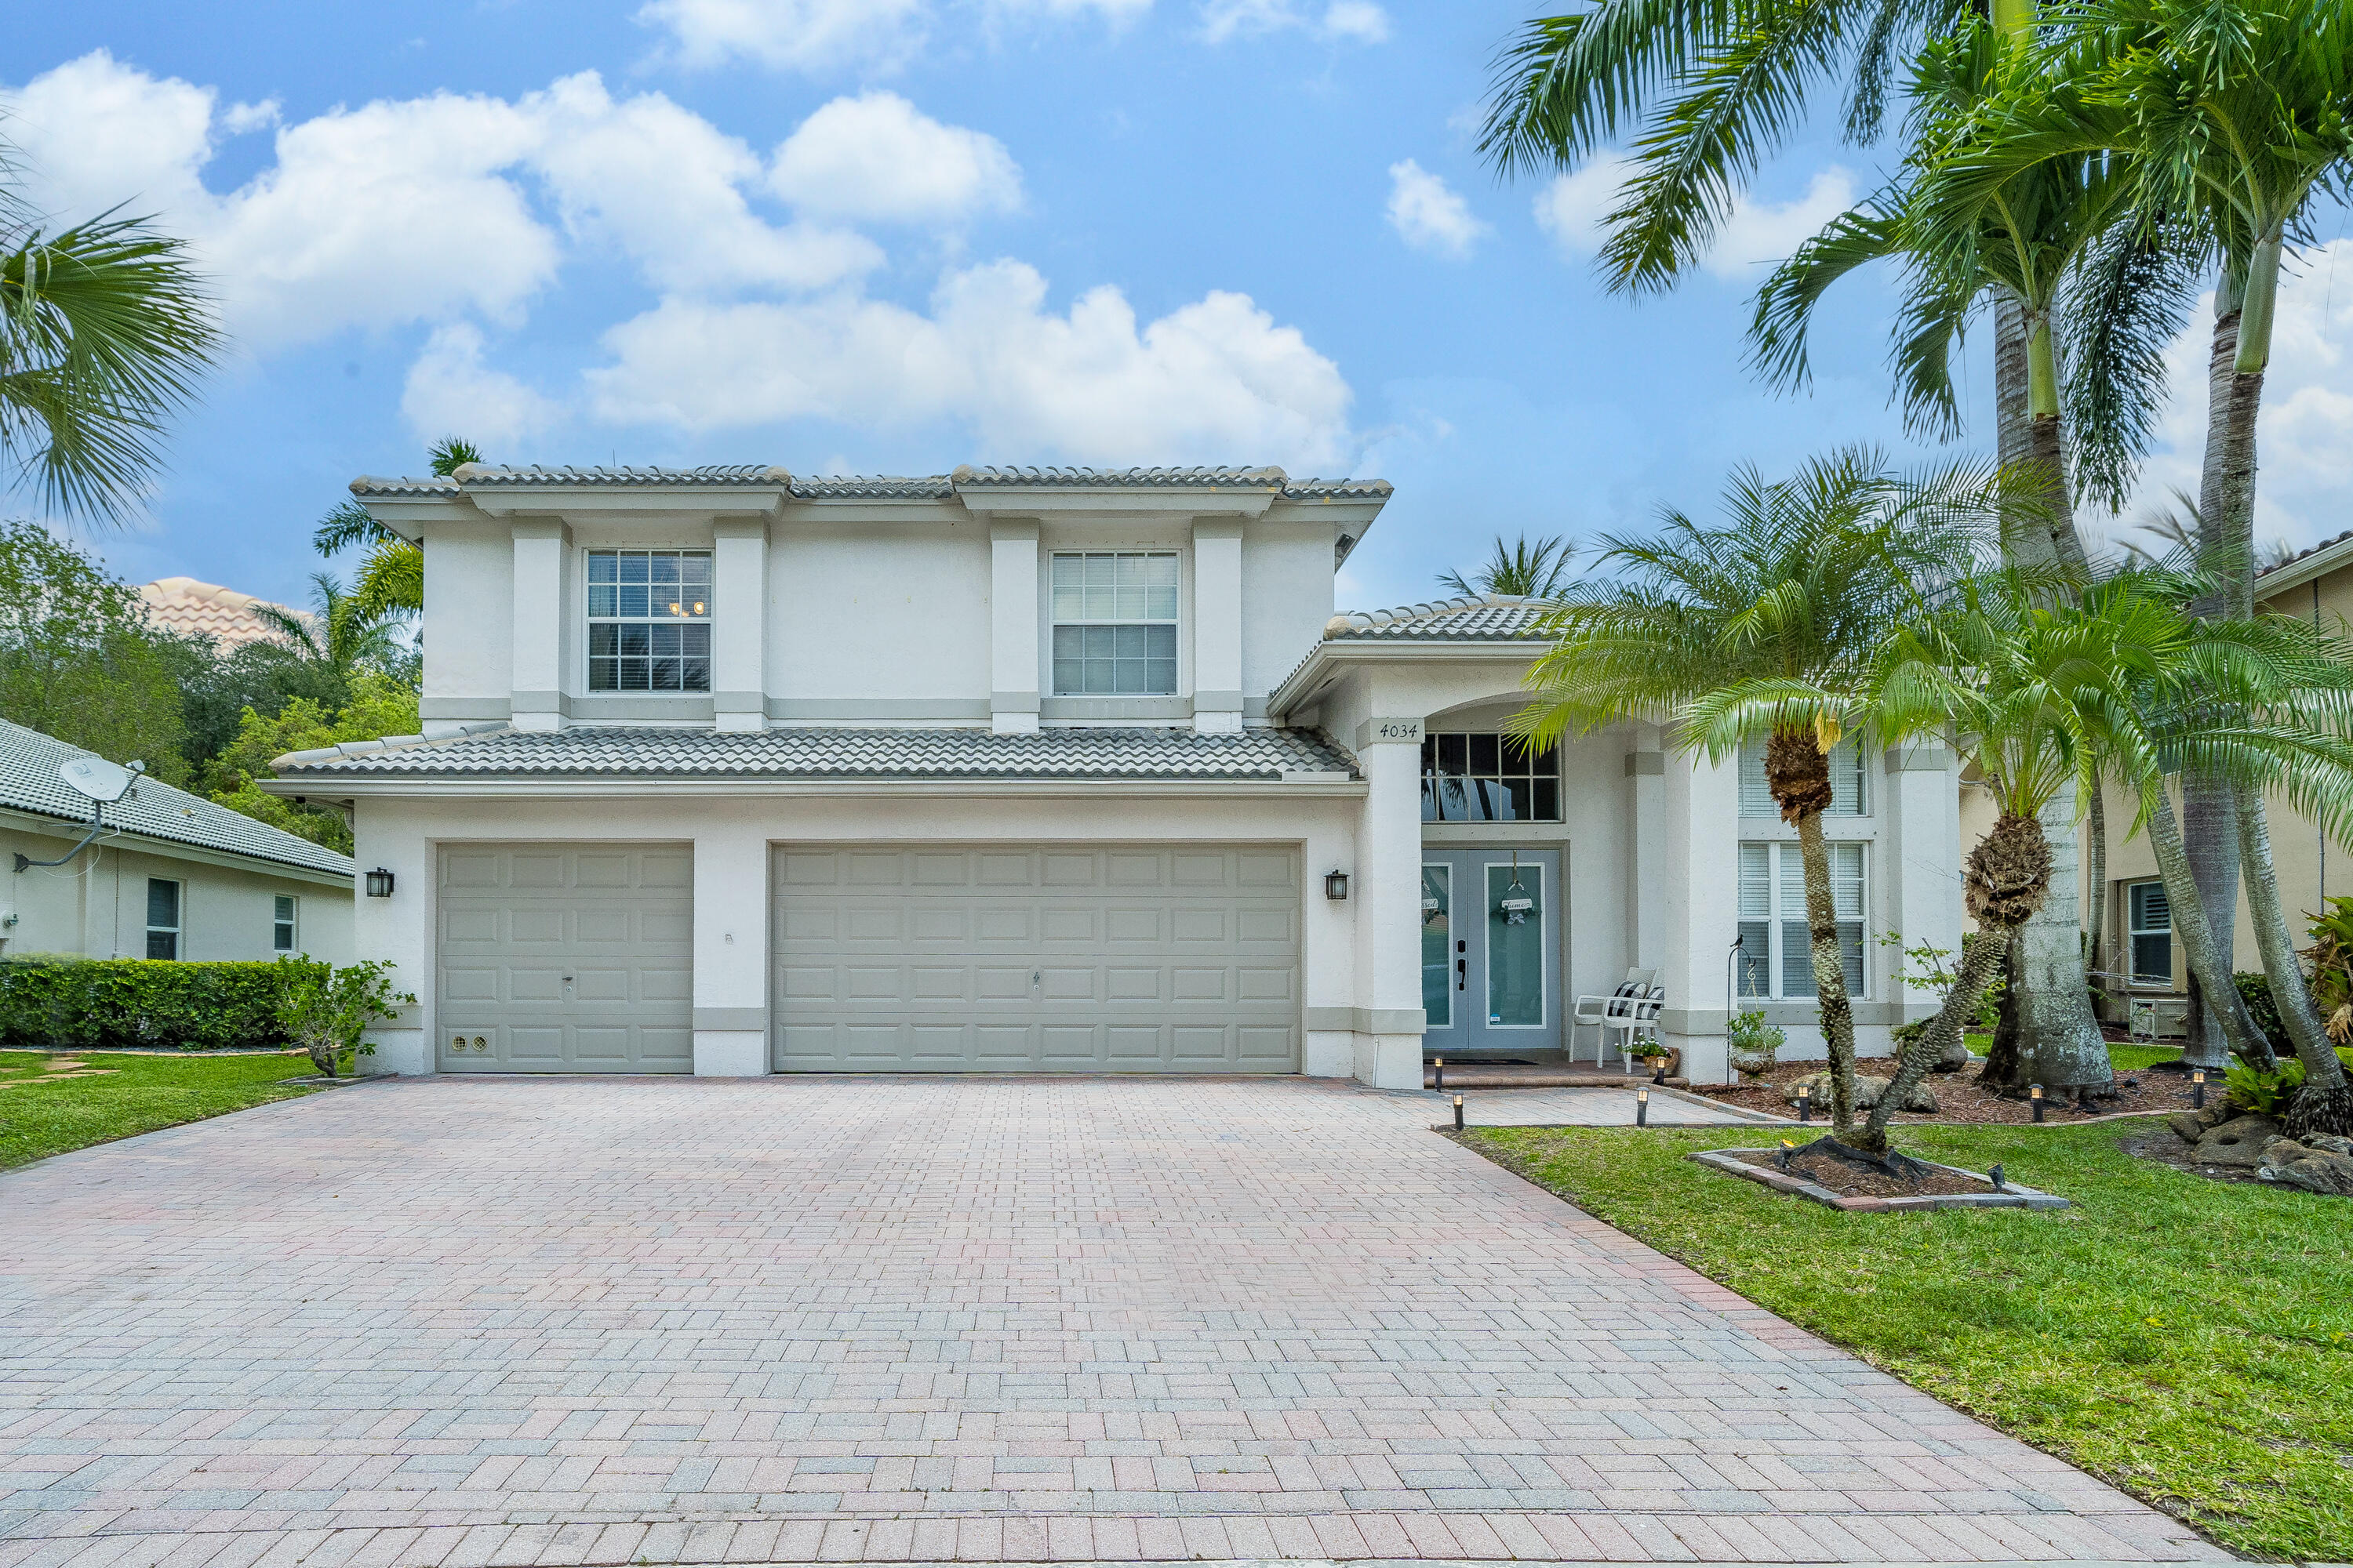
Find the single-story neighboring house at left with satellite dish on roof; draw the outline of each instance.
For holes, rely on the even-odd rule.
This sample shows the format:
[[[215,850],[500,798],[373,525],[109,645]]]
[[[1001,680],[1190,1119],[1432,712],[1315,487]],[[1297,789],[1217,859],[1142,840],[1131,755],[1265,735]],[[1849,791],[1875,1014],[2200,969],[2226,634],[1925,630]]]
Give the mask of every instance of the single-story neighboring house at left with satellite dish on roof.
[[[14,870],[89,832],[89,799],[56,771],[73,757],[89,752],[0,722],[0,954],[351,961],[351,860],[155,778],[66,865]]]

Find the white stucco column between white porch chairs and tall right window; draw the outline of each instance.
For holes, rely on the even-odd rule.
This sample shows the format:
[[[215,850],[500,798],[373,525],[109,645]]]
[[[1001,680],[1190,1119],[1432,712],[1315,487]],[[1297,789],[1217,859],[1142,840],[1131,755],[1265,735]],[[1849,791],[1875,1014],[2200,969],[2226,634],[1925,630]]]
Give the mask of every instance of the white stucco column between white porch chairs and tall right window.
[[[1741,929],[1741,766],[1706,757],[1661,764],[1666,853],[1654,877],[1666,947],[1657,957],[1666,1009],[1659,1039],[1682,1051],[1694,1084],[1729,1081],[1725,973]],[[1652,964],[1652,954],[1642,954]]]

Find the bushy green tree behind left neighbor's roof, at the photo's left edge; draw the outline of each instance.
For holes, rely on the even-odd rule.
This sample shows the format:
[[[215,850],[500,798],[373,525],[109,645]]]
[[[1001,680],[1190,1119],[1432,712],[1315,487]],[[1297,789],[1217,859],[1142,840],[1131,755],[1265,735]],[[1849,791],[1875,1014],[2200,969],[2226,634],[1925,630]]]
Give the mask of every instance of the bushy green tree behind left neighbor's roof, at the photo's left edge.
[[[207,644],[146,623],[139,595],[31,522],[0,524],[0,715],[165,783],[181,757],[181,686]]]

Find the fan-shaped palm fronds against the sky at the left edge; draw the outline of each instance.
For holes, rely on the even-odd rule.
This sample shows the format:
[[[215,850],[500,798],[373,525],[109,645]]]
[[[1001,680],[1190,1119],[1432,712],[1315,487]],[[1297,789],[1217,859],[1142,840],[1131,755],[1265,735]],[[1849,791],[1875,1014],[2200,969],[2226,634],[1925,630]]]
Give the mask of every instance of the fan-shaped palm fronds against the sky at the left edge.
[[[45,505],[129,515],[221,350],[184,240],[104,214],[45,233],[0,150],[0,461]]]

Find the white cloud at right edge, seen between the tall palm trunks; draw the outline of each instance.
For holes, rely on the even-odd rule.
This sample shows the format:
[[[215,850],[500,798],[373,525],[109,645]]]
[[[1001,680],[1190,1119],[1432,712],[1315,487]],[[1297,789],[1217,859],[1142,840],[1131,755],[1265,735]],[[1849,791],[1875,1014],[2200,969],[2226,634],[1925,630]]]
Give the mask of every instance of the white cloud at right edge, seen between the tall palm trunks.
[[[2172,402],[2139,491],[2120,520],[2104,524],[2111,536],[2132,536],[2148,508],[2172,503],[2174,487],[2198,494],[2212,339],[2214,296],[2207,294],[2165,353]],[[2304,548],[2353,522],[2346,517],[2346,494],[2353,494],[2353,240],[2315,247],[2280,280],[2257,454],[2257,541],[2285,538]]]

